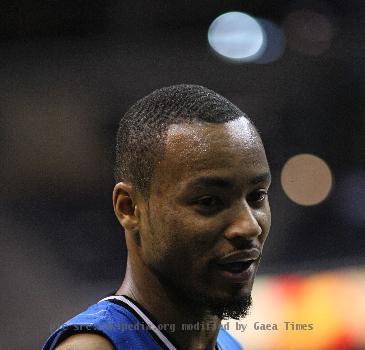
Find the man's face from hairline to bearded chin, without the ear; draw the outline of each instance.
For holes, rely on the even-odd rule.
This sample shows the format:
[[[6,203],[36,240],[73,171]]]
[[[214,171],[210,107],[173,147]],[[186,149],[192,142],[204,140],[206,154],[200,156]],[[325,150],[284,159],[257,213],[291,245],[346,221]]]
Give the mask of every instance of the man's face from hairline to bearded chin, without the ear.
[[[247,119],[170,126],[141,217],[141,258],[191,302],[247,300],[270,228],[269,186]]]

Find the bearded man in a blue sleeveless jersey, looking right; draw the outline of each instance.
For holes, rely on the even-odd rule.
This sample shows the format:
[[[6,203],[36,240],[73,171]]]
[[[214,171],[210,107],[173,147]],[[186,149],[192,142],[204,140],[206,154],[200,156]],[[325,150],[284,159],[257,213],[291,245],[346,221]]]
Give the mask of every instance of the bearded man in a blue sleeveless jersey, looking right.
[[[241,349],[220,324],[247,314],[271,222],[252,122],[204,87],[156,90],[120,122],[115,178],[124,281],[44,349]]]

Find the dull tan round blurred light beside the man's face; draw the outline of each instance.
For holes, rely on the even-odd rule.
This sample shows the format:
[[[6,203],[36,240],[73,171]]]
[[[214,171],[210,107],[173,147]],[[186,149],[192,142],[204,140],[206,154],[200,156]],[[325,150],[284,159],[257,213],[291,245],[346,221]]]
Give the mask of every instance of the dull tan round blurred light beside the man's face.
[[[284,192],[300,205],[322,202],[330,193],[332,182],[332,173],[326,162],[312,154],[290,158],[281,172]]]

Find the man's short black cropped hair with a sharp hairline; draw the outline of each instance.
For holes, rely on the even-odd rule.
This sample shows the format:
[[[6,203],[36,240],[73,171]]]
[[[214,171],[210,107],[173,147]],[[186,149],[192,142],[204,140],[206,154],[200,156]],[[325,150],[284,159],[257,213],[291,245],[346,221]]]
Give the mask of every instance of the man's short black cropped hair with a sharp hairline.
[[[171,124],[225,123],[247,116],[223,96],[199,85],[163,87],[138,100],[120,120],[114,177],[149,196],[156,161]]]

